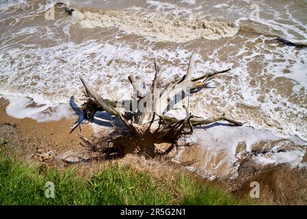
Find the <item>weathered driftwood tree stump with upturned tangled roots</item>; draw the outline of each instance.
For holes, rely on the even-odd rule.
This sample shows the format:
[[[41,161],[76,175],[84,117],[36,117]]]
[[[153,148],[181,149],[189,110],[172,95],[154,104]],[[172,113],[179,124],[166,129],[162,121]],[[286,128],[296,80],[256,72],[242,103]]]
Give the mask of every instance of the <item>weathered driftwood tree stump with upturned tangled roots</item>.
[[[185,118],[165,116],[165,112],[172,109],[174,105],[180,104],[186,96],[201,88],[206,88],[209,80],[215,75],[230,70],[206,73],[202,77],[192,78],[194,60],[195,53],[192,53],[187,73],[183,77],[168,81],[162,81],[163,66],[159,66],[155,62],[155,78],[147,92],[142,86],[140,77],[130,75],[129,81],[133,86],[134,94],[129,101],[103,99],[80,75],[85,87],[85,101],[82,105],[83,116],[92,119],[95,112],[105,111],[122,121],[122,125],[110,122],[114,126],[114,130],[93,140],[87,140],[81,136],[83,142],[93,151],[101,151],[106,155],[122,156],[126,153],[143,153],[155,157],[155,155],[166,155],[174,151],[178,146],[178,140],[193,133],[193,127],[197,125],[208,125],[218,120],[242,125],[224,116],[207,119],[193,116],[185,105],[182,105],[185,109]]]

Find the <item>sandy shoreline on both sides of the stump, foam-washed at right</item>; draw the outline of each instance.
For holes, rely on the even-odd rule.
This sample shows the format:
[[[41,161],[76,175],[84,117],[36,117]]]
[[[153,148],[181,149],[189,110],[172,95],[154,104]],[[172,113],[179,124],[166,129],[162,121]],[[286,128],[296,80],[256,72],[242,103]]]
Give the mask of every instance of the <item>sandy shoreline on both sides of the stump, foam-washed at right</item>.
[[[85,160],[90,161],[89,158],[95,156],[99,157],[97,153],[81,145],[82,140],[79,134],[90,139],[99,131],[109,129],[110,127],[107,127],[109,121],[103,121],[107,118],[101,118],[99,117],[101,115],[97,114],[98,117],[95,116],[94,123],[83,121],[70,133],[72,125],[78,120],[78,115],[69,106],[64,108],[67,111],[65,114],[70,116],[62,118],[59,116],[61,118],[59,120],[39,122],[32,119],[32,117],[36,118],[33,115],[31,118],[14,118],[8,115],[6,108],[9,103],[10,101],[4,98],[0,99],[0,138],[18,146],[23,157],[30,162],[77,164]],[[32,107],[36,107],[35,103]],[[45,111],[51,113],[48,114],[50,118],[53,118],[53,113],[59,114],[58,111],[54,112],[53,108]],[[44,111],[39,114],[42,118]],[[271,131],[264,129],[256,130],[252,127],[235,127],[227,123],[216,123],[208,127],[197,127],[189,138],[195,145],[191,149],[179,147],[173,157],[174,162],[191,163],[190,170],[196,170],[198,175],[206,179],[237,175],[236,172],[240,166],[237,162],[246,156],[252,156],[258,164],[284,162],[293,167],[301,164],[304,166],[307,160],[304,142],[293,136],[288,138],[274,136]],[[197,162],[192,162],[195,160]]]

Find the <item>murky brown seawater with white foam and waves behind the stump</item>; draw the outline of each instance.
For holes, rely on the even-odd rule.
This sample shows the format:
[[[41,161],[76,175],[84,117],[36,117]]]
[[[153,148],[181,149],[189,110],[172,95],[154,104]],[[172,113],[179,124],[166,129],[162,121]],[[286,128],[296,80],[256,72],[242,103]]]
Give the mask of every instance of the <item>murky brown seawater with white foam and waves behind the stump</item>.
[[[0,2],[0,94],[24,108],[12,103],[12,116],[68,116],[64,107],[45,119],[34,114],[70,96],[80,103],[80,74],[103,97],[127,99],[129,75],[150,84],[154,60],[166,66],[165,79],[184,75],[196,51],[195,77],[231,70],[193,94],[191,113],[307,140],[307,49],[276,40],[307,41],[307,1],[73,0],[71,15],[50,8],[55,2]],[[29,109],[25,98],[41,106]]]

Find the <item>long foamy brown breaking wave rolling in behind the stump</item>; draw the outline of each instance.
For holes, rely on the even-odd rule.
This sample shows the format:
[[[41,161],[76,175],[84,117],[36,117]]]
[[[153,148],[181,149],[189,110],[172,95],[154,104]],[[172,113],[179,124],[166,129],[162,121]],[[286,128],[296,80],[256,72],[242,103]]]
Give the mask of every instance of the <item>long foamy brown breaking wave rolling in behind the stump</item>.
[[[187,42],[196,39],[217,40],[237,34],[234,23],[207,21],[196,17],[193,21],[165,17],[158,12],[144,16],[138,12],[120,10],[75,10],[72,23],[83,28],[117,27],[128,34],[149,36],[158,41]]]

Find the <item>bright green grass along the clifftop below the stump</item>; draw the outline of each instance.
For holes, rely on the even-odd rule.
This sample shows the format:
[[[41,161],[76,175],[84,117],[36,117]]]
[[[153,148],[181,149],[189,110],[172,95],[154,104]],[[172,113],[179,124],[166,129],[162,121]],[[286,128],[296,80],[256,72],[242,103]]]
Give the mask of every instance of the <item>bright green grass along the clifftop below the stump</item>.
[[[131,166],[113,165],[81,178],[67,168],[59,171],[18,161],[0,148],[0,205],[237,205],[234,196],[183,172],[174,183],[155,179]],[[14,153],[13,153],[14,154]],[[45,183],[55,185],[46,198]]]

